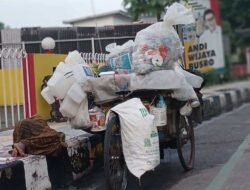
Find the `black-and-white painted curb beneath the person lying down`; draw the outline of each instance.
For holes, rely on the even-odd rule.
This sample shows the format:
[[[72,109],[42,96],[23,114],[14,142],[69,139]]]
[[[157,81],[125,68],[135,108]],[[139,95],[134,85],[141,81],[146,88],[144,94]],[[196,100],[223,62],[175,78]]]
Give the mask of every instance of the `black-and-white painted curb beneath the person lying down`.
[[[66,125],[56,130],[65,133],[68,147],[57,157],[29,155],[6,163],[0,162],[0,189],[67,187],[103,163],[102,135],[72,130]],[[12,131],[8,133],[12,134]],[[10,143],[12,142],[5,143],[6,146],[0,152],[7,153],[11,149]],[[4,156],[1,154],[0,157]]]

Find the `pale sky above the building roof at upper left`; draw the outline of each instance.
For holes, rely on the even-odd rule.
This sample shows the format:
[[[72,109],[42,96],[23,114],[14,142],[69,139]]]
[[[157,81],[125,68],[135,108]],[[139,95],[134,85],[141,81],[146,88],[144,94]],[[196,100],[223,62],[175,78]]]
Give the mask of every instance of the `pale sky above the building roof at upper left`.
[[[67,26],[63,20],[119,9],[122,0],[0,0],[0,22],[11,28]]]

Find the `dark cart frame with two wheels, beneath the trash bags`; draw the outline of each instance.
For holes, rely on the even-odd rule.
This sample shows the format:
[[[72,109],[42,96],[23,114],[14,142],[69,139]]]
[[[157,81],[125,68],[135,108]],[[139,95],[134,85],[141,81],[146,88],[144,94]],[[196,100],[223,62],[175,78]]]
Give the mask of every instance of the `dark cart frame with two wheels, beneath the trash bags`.
[[[177,101],[171,98],[171,91],[142,90],[128,95],[129,91],[119,91],[120,99],[109,102],[101,106],[113,107],[130,98],[140,98],[142,101],[149,101],[163,95],[167,103],[168,124],[158,127],[160,153],[163,156],[163,149],[176,149],[179,160],[185,171],[189,171],[194,166],[195,143],[194,130],[190,116],[182,116],[179,109],[186,102]],[[109,114],[106,124],[104,139],[104,171],[109,189],[126,189],[127,167],[122,150],[121,126],[119,116],[115,112]]]

